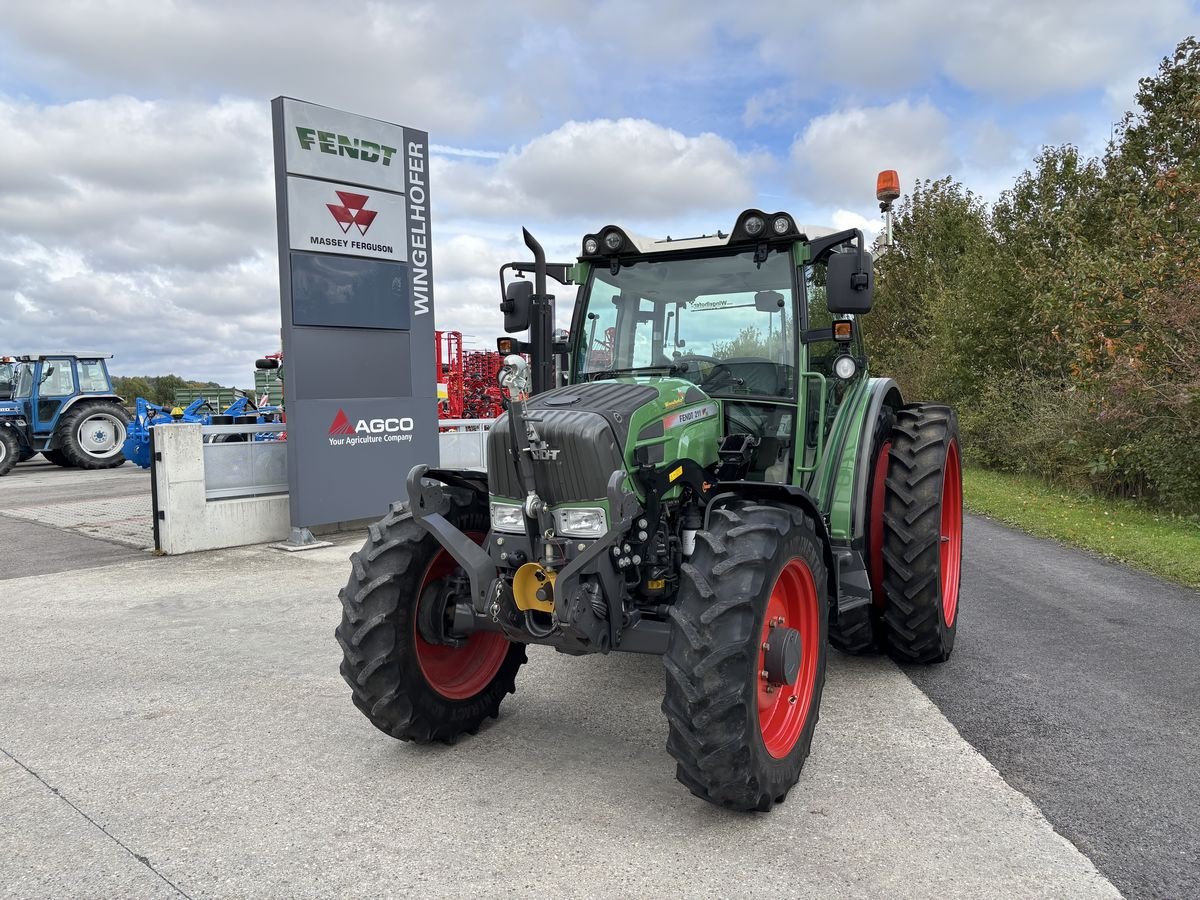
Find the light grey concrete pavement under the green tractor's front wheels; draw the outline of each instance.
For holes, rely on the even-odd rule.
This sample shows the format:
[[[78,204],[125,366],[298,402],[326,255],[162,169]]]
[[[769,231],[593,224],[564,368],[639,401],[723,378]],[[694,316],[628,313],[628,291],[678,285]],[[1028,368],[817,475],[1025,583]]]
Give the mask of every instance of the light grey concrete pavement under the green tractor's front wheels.
[[[0,582],[0,895],[1117,895],[884,660],[830,655],[769,815],[674,780],[654,658],[532,648],[479,736],[394,742],[337,674],[354,544]]]

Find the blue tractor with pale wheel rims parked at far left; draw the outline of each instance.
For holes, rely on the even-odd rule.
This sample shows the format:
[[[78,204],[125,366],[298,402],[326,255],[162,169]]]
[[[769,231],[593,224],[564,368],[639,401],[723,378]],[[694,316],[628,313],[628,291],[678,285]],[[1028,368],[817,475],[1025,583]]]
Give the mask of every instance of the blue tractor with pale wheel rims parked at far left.
[[[112,354],[44,353],[0,359],[0,475],[42,454],[56,466],[121,466],[130,414],[113,392]]]

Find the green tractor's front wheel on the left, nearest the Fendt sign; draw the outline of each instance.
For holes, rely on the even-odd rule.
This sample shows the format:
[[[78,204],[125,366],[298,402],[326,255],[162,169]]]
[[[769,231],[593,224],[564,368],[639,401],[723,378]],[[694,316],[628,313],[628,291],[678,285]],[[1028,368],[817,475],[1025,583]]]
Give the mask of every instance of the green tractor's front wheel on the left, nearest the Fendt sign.
[[[484,504],[472,491],[446,488],[446,518],[481,540],[488,527]],[[354,706],[379,731],[419,744],[452,744],[494,719],[500,701],[516,690],[524,644],[493,631],[475,631],[460,647],[426,640],[418,606],[452,610],[455,581],[464,577],[437,539],[397,505],[371,526],[350,564],[334,634]]]

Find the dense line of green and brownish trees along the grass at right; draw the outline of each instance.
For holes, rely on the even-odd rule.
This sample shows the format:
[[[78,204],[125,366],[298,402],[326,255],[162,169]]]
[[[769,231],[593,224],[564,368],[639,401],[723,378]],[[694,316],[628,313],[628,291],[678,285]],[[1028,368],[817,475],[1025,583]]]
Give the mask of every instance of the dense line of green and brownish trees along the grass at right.
[[[1200,512],[1200,43],[1139,82],[1106,150],[1044,148],[995,203],[896,208],[874,371],[958,407],[977,464]]]

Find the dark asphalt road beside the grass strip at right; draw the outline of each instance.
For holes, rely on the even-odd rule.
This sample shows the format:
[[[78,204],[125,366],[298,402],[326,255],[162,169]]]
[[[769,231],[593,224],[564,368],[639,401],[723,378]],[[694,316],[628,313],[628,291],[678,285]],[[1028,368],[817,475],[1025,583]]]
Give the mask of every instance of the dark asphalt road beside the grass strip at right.
[[[968,517],[954,656],[907,670],[1130,898],[1200,895],[1200,593]]]

